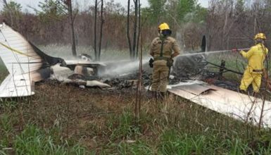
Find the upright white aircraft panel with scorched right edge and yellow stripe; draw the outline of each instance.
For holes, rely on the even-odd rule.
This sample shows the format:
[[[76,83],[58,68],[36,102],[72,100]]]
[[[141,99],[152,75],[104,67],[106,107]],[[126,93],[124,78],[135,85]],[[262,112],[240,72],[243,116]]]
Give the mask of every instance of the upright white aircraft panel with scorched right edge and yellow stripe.
[[[31,44],[4,23],[0,25],[0,56],[9,73],[0,85],[0,97],[30,96],[34,82],[50,75]]]

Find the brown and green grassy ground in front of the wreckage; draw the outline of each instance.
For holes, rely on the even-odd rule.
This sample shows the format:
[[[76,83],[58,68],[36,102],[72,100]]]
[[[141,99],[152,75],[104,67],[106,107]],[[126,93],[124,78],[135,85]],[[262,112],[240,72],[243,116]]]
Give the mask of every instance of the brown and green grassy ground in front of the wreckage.
[[[169,95],[40,82],[30,98],[0,105],[0,154],[270,154],[270,130]]]

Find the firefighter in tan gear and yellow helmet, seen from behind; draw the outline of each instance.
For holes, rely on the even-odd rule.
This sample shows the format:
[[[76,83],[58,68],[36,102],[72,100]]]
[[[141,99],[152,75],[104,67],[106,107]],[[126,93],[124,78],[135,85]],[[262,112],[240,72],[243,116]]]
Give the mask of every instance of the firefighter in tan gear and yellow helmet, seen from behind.
[[[167,91],[170,67],[175,56],[180,52],[179,46],[173,37],[170,37],[171,30],[167,23],[158,27],[159,36],[151,42],[150,66],[153,67],[151,91],[158,97],[164,97]]]

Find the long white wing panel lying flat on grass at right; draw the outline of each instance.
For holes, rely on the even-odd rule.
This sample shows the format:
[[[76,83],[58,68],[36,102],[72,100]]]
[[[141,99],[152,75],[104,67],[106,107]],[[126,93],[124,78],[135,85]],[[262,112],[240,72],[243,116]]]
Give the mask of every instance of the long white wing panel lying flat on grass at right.
[[[185,85],[185,82],[182,82],[180,85]],[[191,86],[188,82],[186,88],[192,89],[189,87],[194,86]],[[260,121],[260,113],[263,108],[262,125],[271,128],[271,101],[265,101],[265,106],[263,107],[262,99],[250,97],[246,94],[240,94],[214,85],[208,87],[215,89],[215,91],[211,90],[207,94],[203,93],[199,95],[177,87],[172,87],[168,89],[168,91],[218,113],[237,118],[244,122],[249,121],[255,125]]]

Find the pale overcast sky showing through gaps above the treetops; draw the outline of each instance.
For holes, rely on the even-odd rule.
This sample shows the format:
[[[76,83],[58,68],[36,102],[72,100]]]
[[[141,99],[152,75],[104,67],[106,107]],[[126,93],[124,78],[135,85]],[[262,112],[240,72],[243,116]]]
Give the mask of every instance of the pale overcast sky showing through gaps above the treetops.
[[[11,1],[11,0],[7,0]],[[32,6],[34,8],[37,8],[37,5],[39,4],[39,1],[44,1],[44,0],[13,0],[23,6],[23,11],[27,8],[27,10],[31,10],[31,8],[28,8],[28,6]],[[94,0],[76,0],[80,6],[87,6],[87,4],[93,4]],[[110,0],[105,0],[105,1],[110,1]],[[119,2],[122,4],[122,6],[127,6],[127,0],[115,0],[115,2]],[[142,6],[148,6],[148,1],[147,0],[141,0],[140,1]],[[208,7],[208,0],[198,0],[198,2],[201,4],[203,7]],[[31,11],[30,11],[31,12]]]

